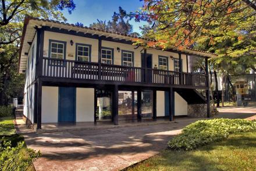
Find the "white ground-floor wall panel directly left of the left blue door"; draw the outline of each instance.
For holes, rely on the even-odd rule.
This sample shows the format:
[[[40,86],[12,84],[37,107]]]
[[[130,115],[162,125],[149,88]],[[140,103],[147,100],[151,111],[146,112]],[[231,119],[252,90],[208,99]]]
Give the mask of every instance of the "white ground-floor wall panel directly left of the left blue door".
[[[58,87],[42,86],[42,123],[58,122]]]

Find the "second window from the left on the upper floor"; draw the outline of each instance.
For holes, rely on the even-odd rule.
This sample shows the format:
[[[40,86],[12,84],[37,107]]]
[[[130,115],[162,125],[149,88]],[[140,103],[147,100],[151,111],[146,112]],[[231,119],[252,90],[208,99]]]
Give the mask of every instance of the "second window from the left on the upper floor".
[[[91,46],[90,45],[83,45],[83,44],[78,44],[76,45],[76,56],[78,61],[90,61],[90,51],[91,51]]]

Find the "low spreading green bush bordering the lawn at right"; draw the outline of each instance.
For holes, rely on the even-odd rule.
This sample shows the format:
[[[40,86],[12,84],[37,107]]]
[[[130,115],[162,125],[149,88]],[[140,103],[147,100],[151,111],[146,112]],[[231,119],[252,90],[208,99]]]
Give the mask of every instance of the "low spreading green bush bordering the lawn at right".
[[[231,133],[256,130],[255,121],[244,119],[211,119],[186,126],[182,133],[168,142],[174,150],[192,150],[214,141],[225,139]]]

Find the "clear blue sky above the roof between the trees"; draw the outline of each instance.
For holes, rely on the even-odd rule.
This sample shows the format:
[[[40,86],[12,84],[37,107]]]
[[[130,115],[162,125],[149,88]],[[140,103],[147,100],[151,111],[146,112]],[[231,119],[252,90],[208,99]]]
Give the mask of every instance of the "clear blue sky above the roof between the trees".
[[[69,14],[64,11],[67,23],[83,23],[84,26],[99,20],[111,20],[113,12],[118,12],[119,6],[126,10],[127,13],[135,12],[143,5],[140,0],[74,0],[76,9]],[[139,27],[147,24],[146,22],[137,23],[134,20],[129,21],[133,25],[133,31],[139,32]]]

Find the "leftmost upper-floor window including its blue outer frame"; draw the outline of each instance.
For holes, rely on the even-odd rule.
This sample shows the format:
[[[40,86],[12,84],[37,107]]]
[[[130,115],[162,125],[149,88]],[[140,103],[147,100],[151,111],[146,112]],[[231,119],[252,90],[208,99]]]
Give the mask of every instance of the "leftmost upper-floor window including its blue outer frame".
[[[66,42],[49,40],[49,57],[54,59],[65,59]]]

